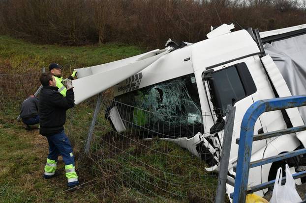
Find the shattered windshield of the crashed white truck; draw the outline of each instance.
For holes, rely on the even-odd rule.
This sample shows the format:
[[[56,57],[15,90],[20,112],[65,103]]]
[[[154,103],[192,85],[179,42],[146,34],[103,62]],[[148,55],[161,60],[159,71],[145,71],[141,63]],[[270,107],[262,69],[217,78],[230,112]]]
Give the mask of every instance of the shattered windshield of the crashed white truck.
[[[165,138],[189,137],[203,132],[194,74],[138,89],[115,100],[129,105],[117,104],[127,128],[146,127],[151,136]]]

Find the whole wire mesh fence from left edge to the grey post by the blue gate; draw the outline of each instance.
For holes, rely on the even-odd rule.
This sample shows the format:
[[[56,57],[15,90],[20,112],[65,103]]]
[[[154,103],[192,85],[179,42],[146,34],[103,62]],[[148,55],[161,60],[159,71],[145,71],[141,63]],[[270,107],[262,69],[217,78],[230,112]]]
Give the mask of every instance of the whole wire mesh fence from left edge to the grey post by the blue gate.
[[[17,118],[22,101],[39,87],[39,75],[0,75],[4,119]],[[223,134],[204,131],[205,120],[215,115],[158,114],[108,99],[111,90],[102,98],[88,154],[84,146],[97,96],[67,111],[65,131],[81,183],[95,180],[98,198],[112,202],[214,202],[216,146]]]

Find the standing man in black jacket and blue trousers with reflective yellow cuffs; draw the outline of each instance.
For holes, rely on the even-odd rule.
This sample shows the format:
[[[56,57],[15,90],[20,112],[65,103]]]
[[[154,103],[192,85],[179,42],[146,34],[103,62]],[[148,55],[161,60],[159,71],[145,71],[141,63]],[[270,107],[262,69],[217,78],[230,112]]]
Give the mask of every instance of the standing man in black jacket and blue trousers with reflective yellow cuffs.
[[[63,97],[56,80],[51,74],[42,74],[40,82],[43,88],[39,94],[39,133],[46,136],[49,143],[49,155],[45,166],[44,178],[57,176],[58,156],[61,154],[65,163],[68,188],[73,191],[79,184],[75,172],[74,156],[69,138],[64,132],[63,125],[66,121],[66,110],[74,106],[74,93],[71,80],[66,81],[66,97]]]

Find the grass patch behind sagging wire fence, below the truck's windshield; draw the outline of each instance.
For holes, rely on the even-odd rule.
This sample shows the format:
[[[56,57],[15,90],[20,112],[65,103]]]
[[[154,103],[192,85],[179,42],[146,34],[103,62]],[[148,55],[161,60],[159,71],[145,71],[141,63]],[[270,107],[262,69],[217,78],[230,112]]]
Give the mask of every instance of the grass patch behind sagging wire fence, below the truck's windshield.
[[[159,139],[130,139],[137,130],[116,134],[104,133],[111,131],[104,124],[96,127],[92,165],[96,174],[115,173],[110,187],[137,190],[145,196],[141,202],[213,202],[216,174],[206,172],[204,161],[187,150]]]

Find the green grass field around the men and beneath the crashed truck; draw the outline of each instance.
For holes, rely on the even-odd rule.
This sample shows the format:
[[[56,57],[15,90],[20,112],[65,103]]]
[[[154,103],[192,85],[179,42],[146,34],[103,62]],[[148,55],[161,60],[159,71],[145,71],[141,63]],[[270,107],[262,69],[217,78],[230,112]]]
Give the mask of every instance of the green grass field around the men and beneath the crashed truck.
[[[144,52],[143,50],[127,45],[111,44],[102,47],[62,47],[57,45],[31,44],[8,36],[0,36],[0,74],[24,74],[39,71],[41,67],[48,67],[51,62],[64,65],[63,75],[67,76],[73,68],[98,65],[122,58],[130,57]],[[33,78],[35,79],[35,78]],[[38,78],[36,78],[38,79]],[[29,81],[31,82],[31,81]],[[1,90],[0,90],[1,91]],[[18,90],[12,90],[12,94]],[[111,94],[111,93],[110,93]],[[0,98],[1,99],[1,98]],[[2,203],[32,203],[32,202],[61,202],[61,203],[136,203],[150,202],[140,193],[146,195],[148,191],[142,186],[150,188],[148,180],[157,184],[160,189],[150,188],[157,193],[163,193],[163,188],[171,192],[173,197],[151,197],[159,203],[186,203],[210,202],[214,197],[216,176],[208,174],[204,169],[204,162],[195,158],[175,158],[176,156],[188,157],[190,153],[182,150],[175,144],[154,139],[149,143],[150,149],[174,155],[174,158],[156,156],[152,150],[139,153],[141,146],[127,146],[125,153],[111,158],[103,158],[109,153],[107,143],[99,141],[92,144],[92,154],[102,154],[101,157],[89,159],[83,153],[88,127],[92,121],[95,99],[68,110],[66,132],[71,139],[76,157],[76,167],[82,189],[74,193],[66,191],[64,177],[64,163],[59,161],[58,170],[62,176],[45,180],[42,178],[44,164],[48,155],[47,139],[37,129],[27,131],[21,122],[16,120],[19,114],[18,103],[21,101],[6,101],[0,106],[0,202]],[[1,103],[0,103],[1,104]],[[4,107],[4,108],[3,108]],[[102,109],[102,112],[104,109]],[[98,118],[100,126],[96,136],[105,133],[105,126],[109,125],[103,120],[103,114]],[[112,138],[113,139],[113,138]],[[120,137],[114,138],[120,147]],[[122,145],[123,146],[123,145]],[[101,147],[104,147],[103,149]],[[166,149],[166,151],[164,151]],[[137,155],[137,156],[136,156]],[[183,178],[158,173],[152,168],[144,167],[139,162],[159,170],[168,170],[169,174],[184,175]],[[109,164],[114,171],[105,170],[101,163]],[[100,165],[99,165],[100,164]],[[201,167],[199,167],[201,166]],[[124,175],[116,173],[115,169],[122,168]],[[127,175],[126,175],[127,174]],[[154,175],[154,176],[152,176]],[[155,178],[152,178],[155,177]],[[189,178],[188,178],[189,177]],[[139,185],[133,185],[137,180]],[[175,183],[174,186],[163,185],[161,180]],[[130,182],[128,187],[124,182]],[[182,187],[186,182],[191,185]],[[140,193],[139,193],[140,192]],[[180,199],[175,196],[188,196]]]

